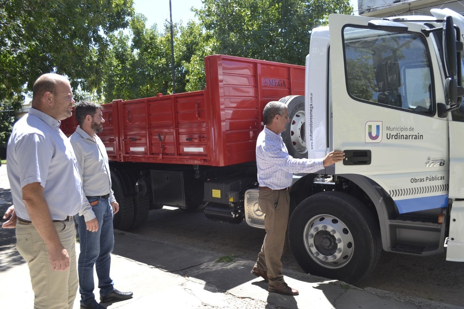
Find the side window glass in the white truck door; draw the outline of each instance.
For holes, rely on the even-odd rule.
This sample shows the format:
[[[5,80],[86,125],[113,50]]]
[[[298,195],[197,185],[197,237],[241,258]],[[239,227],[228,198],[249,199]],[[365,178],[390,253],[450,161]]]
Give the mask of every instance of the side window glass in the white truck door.
[[[431,69],[418,34],[345,27],[348,93],[358,101],[435,114]]]

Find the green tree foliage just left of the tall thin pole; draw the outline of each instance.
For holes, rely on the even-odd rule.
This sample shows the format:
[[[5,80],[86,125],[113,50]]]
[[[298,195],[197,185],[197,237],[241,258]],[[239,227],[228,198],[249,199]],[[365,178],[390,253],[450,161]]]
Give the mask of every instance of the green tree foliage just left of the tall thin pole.
[[[131,36],[122,31],[109,36],[111,48],[103,69],[103,95],[107,102],[168,91],[170,42],[155,25],[146,28],[145,23],[146,18],[136,14],[129,23]]]

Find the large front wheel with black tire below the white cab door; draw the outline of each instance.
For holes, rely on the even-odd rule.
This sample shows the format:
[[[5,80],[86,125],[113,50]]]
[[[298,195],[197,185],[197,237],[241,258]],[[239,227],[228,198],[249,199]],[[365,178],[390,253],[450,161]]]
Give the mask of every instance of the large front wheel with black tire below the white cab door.
[[[356,283],[380,258],[380,230],[374,215],[343,192],[321,192],[301,202],[289,221],[290,249],[311,275]]]

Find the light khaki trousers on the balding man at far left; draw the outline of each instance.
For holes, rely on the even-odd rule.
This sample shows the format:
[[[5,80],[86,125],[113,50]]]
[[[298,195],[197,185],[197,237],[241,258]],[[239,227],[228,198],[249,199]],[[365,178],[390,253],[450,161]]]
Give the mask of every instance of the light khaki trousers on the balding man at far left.
[[[76,229],[74,221],[53,222],[68,251],[67,271],[50,268],[48,248],[32,223],[16,224],[16,249],[26,260],[34,291],[34,309],[71,309],[77,293]]]

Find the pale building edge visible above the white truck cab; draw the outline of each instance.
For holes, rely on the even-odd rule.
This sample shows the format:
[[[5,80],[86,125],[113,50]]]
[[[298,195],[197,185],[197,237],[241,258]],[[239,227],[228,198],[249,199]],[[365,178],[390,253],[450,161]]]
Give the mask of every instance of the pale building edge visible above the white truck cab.
[[[464,0],[358,0],[358,13],[362,16],[432,15],[432,8],[449,8],[462,15]]]

